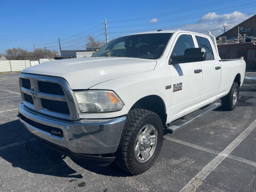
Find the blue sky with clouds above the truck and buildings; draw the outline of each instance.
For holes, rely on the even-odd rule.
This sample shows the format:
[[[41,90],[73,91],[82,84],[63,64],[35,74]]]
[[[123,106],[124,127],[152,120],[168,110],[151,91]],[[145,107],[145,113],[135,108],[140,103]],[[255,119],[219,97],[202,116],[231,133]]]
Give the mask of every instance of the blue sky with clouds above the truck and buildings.
[[[190,30],[215,36],[256,14],[255,0],[1,1],[0,53],[12,47],[83,50],[88,35],[108,38],[149,30]]]

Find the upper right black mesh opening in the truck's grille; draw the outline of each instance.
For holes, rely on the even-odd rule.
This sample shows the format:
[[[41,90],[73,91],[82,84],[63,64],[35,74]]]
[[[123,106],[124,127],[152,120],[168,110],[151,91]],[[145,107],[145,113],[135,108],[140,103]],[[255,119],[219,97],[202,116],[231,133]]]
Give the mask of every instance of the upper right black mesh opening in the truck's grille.
[[[64,95],[61,86],[57,83],[38,81],[38,89],[43,93]]]

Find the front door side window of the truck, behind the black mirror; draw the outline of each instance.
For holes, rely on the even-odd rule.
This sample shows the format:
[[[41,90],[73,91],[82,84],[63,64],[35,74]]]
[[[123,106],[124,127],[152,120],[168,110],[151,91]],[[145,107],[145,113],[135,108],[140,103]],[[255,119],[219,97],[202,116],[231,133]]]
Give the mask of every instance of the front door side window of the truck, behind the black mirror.
[[[190,62],[185,55],[185,50],[191,49],[191,48],[195,48],[192,36],[191,35],[179,36],[172,50],[172,54],[170,58],[172,64]]]

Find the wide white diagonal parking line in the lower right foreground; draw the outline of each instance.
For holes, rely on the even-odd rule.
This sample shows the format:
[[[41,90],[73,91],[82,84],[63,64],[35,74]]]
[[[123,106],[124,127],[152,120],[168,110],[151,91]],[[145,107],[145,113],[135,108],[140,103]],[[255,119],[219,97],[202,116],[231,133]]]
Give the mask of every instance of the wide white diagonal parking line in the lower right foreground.
[[[203,184],[204,179],[241,143],[256,127],[256,119],[239,136],[229,144],[217,157],[196,174],[180,191],[196,191]]]

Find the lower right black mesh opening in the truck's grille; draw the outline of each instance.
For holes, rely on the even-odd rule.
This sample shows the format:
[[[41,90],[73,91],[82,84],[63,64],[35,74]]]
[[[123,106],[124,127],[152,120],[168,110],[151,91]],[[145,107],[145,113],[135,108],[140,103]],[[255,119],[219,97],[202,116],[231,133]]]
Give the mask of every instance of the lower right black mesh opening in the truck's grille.
[[[69,108],[67,102],[53,101],[49,99],[41,99],[42,107],[61,114],[69,114]]]

